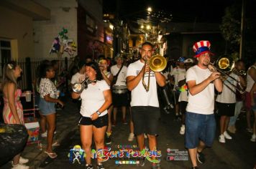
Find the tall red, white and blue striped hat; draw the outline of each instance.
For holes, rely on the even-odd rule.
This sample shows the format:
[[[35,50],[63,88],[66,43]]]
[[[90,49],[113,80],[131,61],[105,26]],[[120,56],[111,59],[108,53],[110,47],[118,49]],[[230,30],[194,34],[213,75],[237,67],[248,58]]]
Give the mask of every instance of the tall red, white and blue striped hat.
[[[211,47],[211,43],[209,41],[196,42],[193,45],[193,52],[196,52],[196,56],[194,57],[200,57],[201,54],[204,54],[206,52],[214,55],[213,53],[211,53],[210,47]]]

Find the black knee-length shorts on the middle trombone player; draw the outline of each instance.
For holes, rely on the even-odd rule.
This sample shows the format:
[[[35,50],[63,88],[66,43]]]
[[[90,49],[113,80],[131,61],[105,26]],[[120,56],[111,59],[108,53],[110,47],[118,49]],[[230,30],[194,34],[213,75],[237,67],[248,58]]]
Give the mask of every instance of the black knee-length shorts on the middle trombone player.
[[[152,106],[133,106],[132,122],[134,124],[134,134],[157,135],[158,120],[160,118],[160,108]]]

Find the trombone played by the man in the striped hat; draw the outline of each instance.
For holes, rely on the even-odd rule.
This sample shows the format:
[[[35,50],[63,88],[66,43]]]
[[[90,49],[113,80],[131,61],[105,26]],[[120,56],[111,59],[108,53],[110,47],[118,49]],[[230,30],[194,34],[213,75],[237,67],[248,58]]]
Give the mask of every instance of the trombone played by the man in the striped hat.
[[[216,62],[217,67],[215,67],[214,64],[215,63],[210,63],[210,65],[214,67],[214,69],[210,69],[211,72],[218,71],[222,74],[222,77],[226,76],[230,77],[231,79],[234,79],[234,77],[228,74],[229,72],[232,72],[232,70],[234,69],[234,60],[232,58],[227,56],[219,57],[219,59],[217,59]],[[244,87],[242,87],[242,84],[237,79],[234,79],[234,81],[237,82],[237,85],[234,85],[227,79],[225,79],[225,81],[231,84],[240,94],[244,94]]]

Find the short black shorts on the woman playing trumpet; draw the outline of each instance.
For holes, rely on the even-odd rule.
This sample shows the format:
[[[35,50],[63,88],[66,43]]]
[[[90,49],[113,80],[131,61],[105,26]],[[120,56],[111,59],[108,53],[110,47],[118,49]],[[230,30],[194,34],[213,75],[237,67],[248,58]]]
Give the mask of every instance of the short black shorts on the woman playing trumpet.
[[[90,117],[81,117],[79,120],[79,125],[94,125],[97,128],[107,126],[109,124],[109,115],[98,117],[96,120],[91,120]]]

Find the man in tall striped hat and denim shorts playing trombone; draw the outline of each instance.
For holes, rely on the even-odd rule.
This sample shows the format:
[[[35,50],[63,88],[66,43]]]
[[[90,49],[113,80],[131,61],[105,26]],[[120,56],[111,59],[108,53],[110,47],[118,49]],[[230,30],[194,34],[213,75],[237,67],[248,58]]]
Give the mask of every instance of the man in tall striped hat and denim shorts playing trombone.
[[[193,45],[198,64],[186,72],[188,83],[188,106],[186,107],[185,146],[191,158],[192,168],[204,163],[202,150],[214,142],[216,122],[214,118],[214,87],[222,91],[222,82],[219,72],[211,72],[210,42],[200,41]]]

